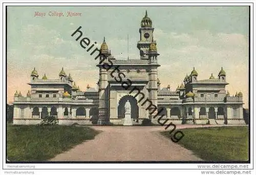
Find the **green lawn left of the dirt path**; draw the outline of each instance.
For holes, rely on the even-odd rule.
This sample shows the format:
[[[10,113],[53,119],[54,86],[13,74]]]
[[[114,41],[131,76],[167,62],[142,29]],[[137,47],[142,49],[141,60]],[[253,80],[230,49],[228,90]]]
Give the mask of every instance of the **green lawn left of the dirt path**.
[[[99,132],[75,126],[7,126],[9,161],[46,161]]]

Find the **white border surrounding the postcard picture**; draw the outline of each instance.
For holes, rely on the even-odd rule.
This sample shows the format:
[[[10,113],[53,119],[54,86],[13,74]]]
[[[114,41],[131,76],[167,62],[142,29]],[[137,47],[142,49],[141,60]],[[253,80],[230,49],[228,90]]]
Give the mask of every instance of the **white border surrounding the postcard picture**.
[[[3,58],[3,75],[2,75],[2,72],[1,72],[1,79],[3,78],[3,80],[1,81],[1,90],[3,90],[3,104],[1,104],[1,108],[0,108],[0,110],[1,111],[5,111],[5,95],[6,95],[6,89],[5,89],[5,85],[6,85],[6,82],[5,82],[5,76],[6,76],[6,67],[5,67],[5,60],[6,60],[6,58],[5,58],[5,54],[6,54],[6,49],[5,49],[5,47],[6,47],[6,45],[5,45],[5,28],[6,28],[6,26],[5,26],[5,19],[4,19],[4,21],[3,21],[3,17],[5,18],[5,6],[40,6],[40,5],[44,5],[44,6],[88,6],[88,5],[90,5],[90,6],[117,6],[117,5],[121,5],[121,6],[249,6],[249,5],[252,5],[251,6],[251,16],[250,16],[250,24],[251,24],[251,34],[250,34],[250,38],[251,38],[251,45],[250,45],[250,47],[251,47],[251,62],[250,62],[250,66],[251,66],[251,72],[250,72],[250,82],[251,82],[251,86],[250,86],[250,90],[251,90],[251,94],[250,94],[250,99],[252,99],[252,97],[255,97],[254,96],[254,94],[253,94],[253,67],[254,67],[254,64],[253,64],[253,58],[254,58],[254,56],[253,56],[253,48],[254,48],[254,46],[252,45],[253,43],[252,43],[252,41],[253,41],[253,39],[254,39],[254,36],[253,36],[253,34],[252,34],[252,31],[253,31],[253,19],[254,19],[254,14],[253,14],[253,4],[252,4],[252,2],[253,1],[246,1],[246,3],[241,3],[241,1],[232,1],[232,3],[231,3],[231,1],[226,1],[225,3],[223,3],[223,1],[215,1],[215,3],[205,3],[205,1],[194,1],[194,2],[196,2],[196,4],[195,3],[189,3],[190,1],[179,1],[179,3],[173,3],[173,4],[170,4],[170,3],[168,3],[168,2],[166,2],[166,1],[162,1],[163,3],[154,3],[154,4],[152,4],[152,3],[148,3],[148,2],[154,2],[154,1],[144,1],[144,2],[146,2],[146,3],[136,3],[136,4],[133,4],[133,3],[125,3],[125,4],[118,4],[118,3],[111,3],[111,4],[109,4],[109,3],[101,3],[101,4],[97,4],[97,3],[100,3],[100,1],[94,1],[94,2],[97,2],[97,3],[81,3],[81,4],[75,4],[75,3],[68,3],[68,4],[63,4],[63,2],[67,2],[67,1],[61,1],[62,3],[48,3],[48,4],[42,4],[42,3],[33,3],[33,2],[35,2],[35,1],[26,1],[26,2],[29,2],[29,3],[23,3],[23,4],[20,4],[20,3],[12,3],[12,2],[17,2],[17,1],[8,1],[7,3],[5,3],[5,4],[2,4],[2,9],[3,9],[3,13],[1,14],[1,20],[2,20],[2,24],[3,24],[3,26],[2,26],[2,32],[4,32],[4,35],[3,35],[3,38],[2,38],[2,35],[1,35],[1,38],[3,39],[3,52],[4,53],[2,53],[2,55],[4,54],[4,58]],[[30,3],[31,2],[31,3]],[[45,1],[45,2],[52,2],[52,1]],[[55,1],[56,2],[56,1]],[[81,1],[77,1],[77,2],[81,2]],[[115,2],[117,2],[117,1],[115,1]],[[131,1],[130,1],[131,2]],[[136,1],[134,1],[134,2],[136,2]],[[231,4],[230,4],[230,3]],[[183,3],[186,3],[186,4],[183,4]],[[228,3],[228,4],[226,4],[226,3]],[[239,3],[239,4],[237,4],[237,3]],[[2,15],[4,15],[4,16],[2,16]],[[2,51],[1,51],[2,52]],[[2,63],[1,63],[2,64]],[[3,84],[2,84],[2,82],[3,82]],[[2,89],[3,88],[3,89]],[[2,95],[2,94],[1,94]],[[252,96],[253,95],[253,96]],[[1,96],[2,97],[2,96]],[[253,104],[253,101],[251,100],[251,102],[250,102],[250,109],[251,109],[251,127],[250,127],[250,131],[251,131],[251,135],[250,135],[250,139],[251,139],[251,146],[250,146],[250,148],[251,148],[251,163],[250,164],[248,164],[249,165],[249,169],[252,169],[252,165],[253,165],[253,146],[252,146],[252,141],[253,141],[253,126],[254,126],[254,120],[253,120],[253,117],[252,117],[252,112],[253,112],[253,106],[254,106],[254,104]],[[255,109],[255,107],[254,107],[254,109]],[[3,121],[4,121],[4,123],[5,123],[5,115],[4,115],[4,117],[3,117],[4,119],[3,119]],[[2,126],[3,126],[3,122],[2,120],[1,120],[1,124],[2,124]],[[252,124],[253,123],[253,124]],[[4,136],[5,136],[5,129],[6,129],[6,127],[5,127],[5,125],[4,125],[4,128],[3,128],[3,134],[4,134]],[[2,130],[1,130],[1,137],[3,137],[2,136]],[[4,167],[2,167],[2,163],[1,163],[1,169],[2,168],[5,168],[5,169],[9,169],[8,168],[8,166],[7,165],[19,165],[19,164],[5,164],[5,143],[6,143],[6,140],[5,140],[5,137],[4,138],[2,138],[2,140],[3,140],[3,143],[4,143],[4,152],[2,153],[2,151],[1,151],[1,156],[3,157],[3,162],[4,162]],[[2,147],[2,144],[1,144],[1,148],[2,148],[2,150],[3,150],[3,147]],[[255,150],[255,149],[254,149]],[[27,164],[23,164],[23,165],[27,165]],[[184,163],[168,163],[168,164],[159,164],[159,163],[157,163],[157,164],[131,164],[131,163],[129,163],[129,164],[55,164],[55,163],[50,163],[50,164],[28,164],[28,165],[35,165],[35,168],[36,169],[67,169],[67,168],[69,168],[69,169],[79,169],[79,168],[82,168],[82,169],[110,169],[110,168],[117,168],[117,169],[165,169],[165,168],[167,168],[167,169],[180,169],[180,170],[182,170],[182,174],[183,174],[183,172],[184,173],[189,173],[189,174],[194,174],[194,172],[196,172],[196,171],[193,171],[193,170],[187,170],[187,169],[198,169],[198,167],[197,167],[197,163],[193,163],[193,164],[191,164],[191,163],[186,163],[186,164],[184,164]],[[212,165],[212,164],[204,164],[204,165]],[[225,165],[227,165],[227,164],[225,164]],[[234,165],[234,164],[232,164],[232,165]],[[255,166],[254,166],[255,167]],[[181,171],[180,170],[175,170],[175,171],[173,171],[172,170],[172,173],[173,172],[178,172],[178,173],[181,173]],[[58,170],[58,172],[59,172],[60,170]],[[91,171],[91,170],[90,170]],[[198,170],[197,172],[199,172],[199,171],[201,171],[201,170]],[[4,171],[3,171],[4,172]],[[48,170],[48,172],[47,171],[36,171],[36,173],[39,173],[39,174],[45,174],[45,173],[49,173],[49,172],[54,172],[54,173],[56,173],[55,171],[49,171]],[[68,174],[70,174],[70,171],[69,170],[66,170],[66,171],[61,171],[61,172],[65,172],[65,173],[68,173]],[[72,171],[72,172],[74,172],[74,171]],[[91,171],[91,172],[95,172],[95,171]],[[123,173],[124,171],[120,171],[121,173]],[[144,171],[142,171],[142,170],[136,170],[136,171],[134,171],[134,172],[136,172],[136,174],[137,173],[143,173]],[[150,171],[150,172],[154,172],[154,173],[157,173],[157,172],[159,172],[159,171],[155,171],[155,170],[152,170],[152,171]],[[102,171],[102,173],[104,173],[104,171]],[[50,173],[50,174],[52,174],[52,173]],[[201,174],[201,173],[200,173]]]

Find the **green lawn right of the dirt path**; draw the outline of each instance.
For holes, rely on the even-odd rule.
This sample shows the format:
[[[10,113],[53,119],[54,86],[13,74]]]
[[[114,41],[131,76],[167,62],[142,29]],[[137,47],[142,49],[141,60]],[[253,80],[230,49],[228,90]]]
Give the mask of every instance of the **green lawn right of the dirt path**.
[[[190,149],[203,160],[248,160],[248,127],[191,128],[181,131],[184,137],[177,144]],[[166,131],[161,134],[170,137]]]

